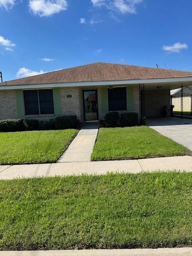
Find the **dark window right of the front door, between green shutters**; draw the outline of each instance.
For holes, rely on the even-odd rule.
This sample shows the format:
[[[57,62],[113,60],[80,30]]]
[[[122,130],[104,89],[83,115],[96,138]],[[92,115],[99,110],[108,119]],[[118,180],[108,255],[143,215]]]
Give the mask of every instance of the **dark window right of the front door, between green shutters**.
[[[126,87],[108,88],[109,111],[126,110]]]

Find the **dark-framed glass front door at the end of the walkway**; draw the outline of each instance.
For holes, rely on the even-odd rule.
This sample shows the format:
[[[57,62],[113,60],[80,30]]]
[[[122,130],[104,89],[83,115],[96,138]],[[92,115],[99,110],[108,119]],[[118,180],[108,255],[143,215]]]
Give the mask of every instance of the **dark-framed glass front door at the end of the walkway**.
[[[98,120],[97,90],[83,91],[84,120]]]

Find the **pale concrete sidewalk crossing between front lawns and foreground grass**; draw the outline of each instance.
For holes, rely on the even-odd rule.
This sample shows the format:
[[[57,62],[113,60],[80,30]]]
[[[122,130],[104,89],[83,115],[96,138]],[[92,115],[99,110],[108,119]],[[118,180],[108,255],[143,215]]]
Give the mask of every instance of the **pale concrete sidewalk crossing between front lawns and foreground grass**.
[[[172,156],[138,160],[99,162],[63,162],[55,164],[22,164],[0,166],[0,179],[55,175],[106,174],[107,172],[130,172],[155,170],[186,170],[192,172],[192,156]]]

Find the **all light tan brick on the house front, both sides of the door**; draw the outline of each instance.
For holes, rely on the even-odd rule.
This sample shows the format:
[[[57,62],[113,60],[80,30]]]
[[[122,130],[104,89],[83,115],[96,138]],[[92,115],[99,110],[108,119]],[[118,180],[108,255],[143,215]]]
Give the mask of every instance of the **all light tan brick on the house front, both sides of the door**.
[[[98,92],[98,116],[99,119],[104,119],[106,112],[102,112],[101,108],[101,86],[97,88]],[[66,98],[66,94],[72,94],[72,98]],[[61,111],[62,115],[76,115],[79,120],[84,121],[83,112],[83,96],[82,88],[60,88],[61,99]],[[125,111],[119,111],[127,112]],[[133,112],[133,111],[131,111]],[[139,86],[134,86],[134,112],[139,114]],[[17,102],[15,90],[3,90],[0,91],[0,119],[7,118],[29,118],[38,120],[48,120],[56,117],[51,115],[29,115],[18,116],[17,114]]]

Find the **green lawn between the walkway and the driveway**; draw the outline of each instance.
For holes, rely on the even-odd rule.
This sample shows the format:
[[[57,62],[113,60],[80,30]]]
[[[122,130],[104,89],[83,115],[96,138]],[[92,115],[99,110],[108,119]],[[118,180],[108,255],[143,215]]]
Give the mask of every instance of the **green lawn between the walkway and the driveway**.
[[[99,129],[93,161],[182,156],[190,150],[148,126]]]

